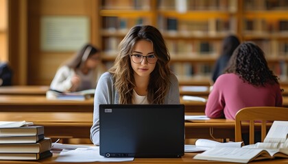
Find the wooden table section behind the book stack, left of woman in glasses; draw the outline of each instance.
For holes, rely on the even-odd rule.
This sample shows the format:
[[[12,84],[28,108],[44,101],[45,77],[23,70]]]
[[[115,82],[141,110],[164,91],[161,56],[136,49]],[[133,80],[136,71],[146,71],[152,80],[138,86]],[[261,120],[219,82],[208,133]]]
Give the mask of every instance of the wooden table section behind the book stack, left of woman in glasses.
[[[0,112],[1,121],[27,121],[45,126],[51,138],[89,138],[93,124],[91,112]]]

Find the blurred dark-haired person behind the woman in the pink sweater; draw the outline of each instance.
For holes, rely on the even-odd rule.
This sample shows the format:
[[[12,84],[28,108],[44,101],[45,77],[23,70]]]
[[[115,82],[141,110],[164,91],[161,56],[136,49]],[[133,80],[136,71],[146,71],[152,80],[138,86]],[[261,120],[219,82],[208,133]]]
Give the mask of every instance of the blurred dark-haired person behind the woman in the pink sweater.
[[[216,79],[224,74],[224,69],[226,68],[233,51],[239,46],[240,41],[236,36],[228,36],[224,38],[222,43],[221,55],[217,59],[215,68],[212,72],[212,80],[215,83]]]

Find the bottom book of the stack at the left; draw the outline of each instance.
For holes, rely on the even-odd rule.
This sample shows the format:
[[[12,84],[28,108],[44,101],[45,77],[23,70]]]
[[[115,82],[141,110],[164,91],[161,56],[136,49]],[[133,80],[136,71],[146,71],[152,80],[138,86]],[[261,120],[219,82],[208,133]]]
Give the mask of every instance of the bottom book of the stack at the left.
[[[30,161],[45,159],[49,156],[52,156],[50,150],[41,153],[0,153],[0,160]]]

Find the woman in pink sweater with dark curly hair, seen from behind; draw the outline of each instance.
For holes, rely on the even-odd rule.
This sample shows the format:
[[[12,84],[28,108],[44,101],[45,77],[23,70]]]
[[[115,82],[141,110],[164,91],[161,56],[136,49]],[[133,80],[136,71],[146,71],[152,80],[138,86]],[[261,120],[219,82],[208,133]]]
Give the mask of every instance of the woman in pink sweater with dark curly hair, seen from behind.
[[[218,77],[208,96],[208,118],[235,120],[244,107],[281,107],[278,77],[269,70],[263,51],[252,42],[243,42],[234,51],[225,74]]]

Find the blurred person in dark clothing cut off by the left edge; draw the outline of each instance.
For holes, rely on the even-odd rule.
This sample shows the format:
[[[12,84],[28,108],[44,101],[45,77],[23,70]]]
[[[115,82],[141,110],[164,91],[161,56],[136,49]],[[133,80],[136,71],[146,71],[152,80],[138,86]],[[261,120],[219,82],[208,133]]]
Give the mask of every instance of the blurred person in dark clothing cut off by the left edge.
[[[0,61],[0,86],[12,85],[12,69],[6,62]]]

